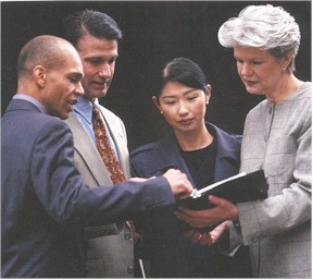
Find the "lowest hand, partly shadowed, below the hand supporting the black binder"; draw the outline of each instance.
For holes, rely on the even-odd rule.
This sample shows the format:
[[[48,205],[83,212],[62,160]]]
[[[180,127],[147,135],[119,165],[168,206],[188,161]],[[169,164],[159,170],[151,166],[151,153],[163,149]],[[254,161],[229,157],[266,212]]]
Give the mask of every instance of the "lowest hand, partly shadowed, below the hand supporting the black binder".
[[[195,243],[199,242],[202,245],[211,246],[217,242],[217,240],[221,238],[221,235],[226,229],[228,229],[228,222],[224,221],[210,232],[200,233],[197,230],[189,230],[184,234]]]

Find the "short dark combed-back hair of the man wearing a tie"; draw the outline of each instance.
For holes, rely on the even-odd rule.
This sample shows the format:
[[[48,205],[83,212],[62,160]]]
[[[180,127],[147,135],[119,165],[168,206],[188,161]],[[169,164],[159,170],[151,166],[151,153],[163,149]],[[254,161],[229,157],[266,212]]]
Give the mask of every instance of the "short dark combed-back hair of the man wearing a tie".
[[[117,23],[111,16],[92,10],[78,11],[66,16],[63,26],[65,38],[75,47],[84,34],[109,40],[120,40],[123,36]]]

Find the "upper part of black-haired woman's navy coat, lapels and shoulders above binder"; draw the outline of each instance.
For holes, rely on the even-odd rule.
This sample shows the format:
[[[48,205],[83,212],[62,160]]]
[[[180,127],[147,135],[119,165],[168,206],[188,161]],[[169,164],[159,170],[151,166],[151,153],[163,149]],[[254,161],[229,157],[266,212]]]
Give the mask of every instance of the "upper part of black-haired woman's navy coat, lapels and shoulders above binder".
[[[208,130],[215,135],[217,144],[214,182],[238,173],[240,165],[241,136],[230,135],[211,123]],[[149,178],[160,175],[171,167],[186,173],[190,182],[193,180],[179,154],[177,142],[172,131],[159,142],[143,145],[130,154],[132,174]]]

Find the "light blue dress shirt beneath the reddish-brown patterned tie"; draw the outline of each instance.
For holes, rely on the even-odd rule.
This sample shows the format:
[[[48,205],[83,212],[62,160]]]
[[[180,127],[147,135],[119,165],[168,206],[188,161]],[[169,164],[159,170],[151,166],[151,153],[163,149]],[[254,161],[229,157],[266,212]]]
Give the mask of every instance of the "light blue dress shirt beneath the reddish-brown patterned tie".
[[[96,137],[95,137],[95,132],[93,132],[93,127],[92,127],[92,102],[90,102],[89,100],[87,100],[83,96],[78,96],[77,100],[78,100],[78,102],[74,106],[74,114],[77,117],[78,121],[83,124],[84,129],[86,130],[87,134],[89,135],[89,137],[91,138],[92,143],[96,146]],[[97,106],[99,106],[99,100],[96,99],[95,104]],[[113,141],[112,133],[111,133],[111,131],[107,124],[107,121],[105,121],[101,110],[100,110],[100,115],[104,122],[105,130],[109,134],[111,147],[113,148],[113,150],[116,155],[116,158],[120,161],[116,145]]]

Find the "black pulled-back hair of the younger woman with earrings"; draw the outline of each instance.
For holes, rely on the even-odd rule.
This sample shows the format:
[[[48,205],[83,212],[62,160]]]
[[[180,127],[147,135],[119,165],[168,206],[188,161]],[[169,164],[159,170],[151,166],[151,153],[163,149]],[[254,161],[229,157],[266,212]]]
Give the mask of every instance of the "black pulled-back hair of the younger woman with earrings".
[[[177,82],[183,85],[208,92],[206,77],[202,69],[192,60],[176,58],[168,62],[162,71],[161,81],[154,95],[159,98],[163,87],[168,82]]]

